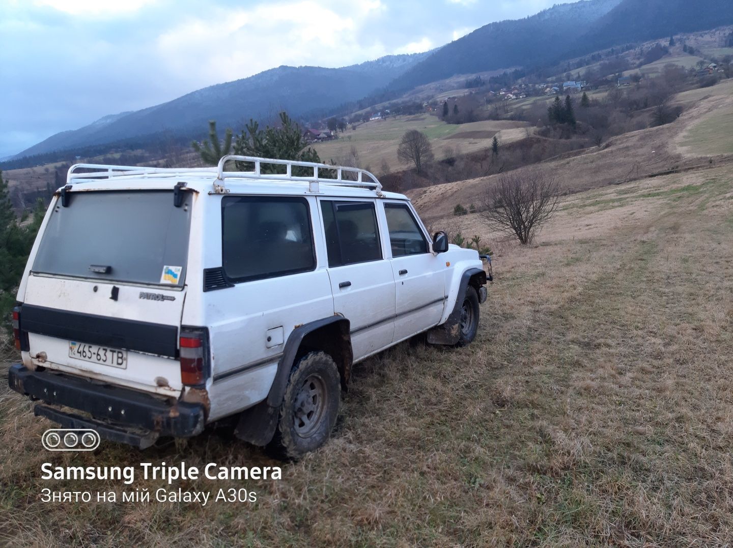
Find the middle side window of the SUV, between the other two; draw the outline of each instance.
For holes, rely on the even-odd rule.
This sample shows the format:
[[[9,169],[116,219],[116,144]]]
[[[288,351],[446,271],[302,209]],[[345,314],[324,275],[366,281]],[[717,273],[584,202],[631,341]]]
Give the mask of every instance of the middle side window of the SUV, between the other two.
[[[382,258],[374,203],[322,200],[321,212],[328,266]]]

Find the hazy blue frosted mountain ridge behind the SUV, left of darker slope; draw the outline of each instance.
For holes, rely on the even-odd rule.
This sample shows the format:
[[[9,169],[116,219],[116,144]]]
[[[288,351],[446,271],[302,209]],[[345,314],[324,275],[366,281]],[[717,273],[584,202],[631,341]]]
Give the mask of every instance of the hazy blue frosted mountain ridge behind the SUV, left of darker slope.
[[[51,135],[14,158],[166,131],[199,136],[205,134],[210,119],[226,127],[249,118],[272,118],[280,109],[297,118],[314,108],[341,102],[342,97],[360,99],[386,86],[402,70],[429,54],[383,56],[339,68],[281,65],[247,78],[206,86],[159,105],[103,116],[77,130]],[[367,86],[365,80],[369,82]]]

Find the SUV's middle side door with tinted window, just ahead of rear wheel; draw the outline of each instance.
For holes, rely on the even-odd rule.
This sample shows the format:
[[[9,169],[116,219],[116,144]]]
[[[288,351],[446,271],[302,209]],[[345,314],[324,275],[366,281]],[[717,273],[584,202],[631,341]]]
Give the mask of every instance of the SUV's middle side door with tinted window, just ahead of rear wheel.
[[[375,200],[320,200],[334,309],[351,323],[354,360],[391,345],[394,277],[384,259]]]

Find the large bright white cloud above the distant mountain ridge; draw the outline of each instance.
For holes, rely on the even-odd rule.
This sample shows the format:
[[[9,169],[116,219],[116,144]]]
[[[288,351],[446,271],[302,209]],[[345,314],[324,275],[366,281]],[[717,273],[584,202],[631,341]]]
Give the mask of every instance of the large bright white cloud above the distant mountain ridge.
[[[383,11],[380,1],[356,2],[350,8],[337,12],[313,0],[249,9],[218,7],[205,18],[187,18],[163,32],[154,51],[167,70],[190,75],[196,86],[244,78],[281,64],[339,67],[389,53],[379,40],[359,40],[359,31]]]

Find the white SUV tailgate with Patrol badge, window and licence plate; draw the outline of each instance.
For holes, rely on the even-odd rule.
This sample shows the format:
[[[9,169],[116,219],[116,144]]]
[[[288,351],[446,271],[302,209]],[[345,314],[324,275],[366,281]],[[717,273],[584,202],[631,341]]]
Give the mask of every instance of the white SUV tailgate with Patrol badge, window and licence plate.
[[[23,295],[37,365],[161,394],[181,389],[192,192],[75,191],[57,200]]]

